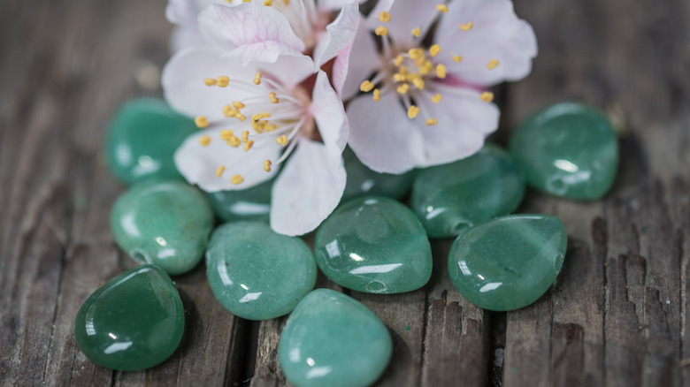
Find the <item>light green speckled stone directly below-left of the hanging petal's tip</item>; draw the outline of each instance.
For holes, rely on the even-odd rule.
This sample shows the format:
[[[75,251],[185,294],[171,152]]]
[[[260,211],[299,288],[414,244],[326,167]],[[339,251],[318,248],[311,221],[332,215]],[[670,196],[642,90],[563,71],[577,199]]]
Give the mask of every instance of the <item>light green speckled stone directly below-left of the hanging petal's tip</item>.
[[[223,224],[213,231],[206,277],[232,314],[249,320],[285,315],[314,288],[317,267],[302,239],[262,222]]]

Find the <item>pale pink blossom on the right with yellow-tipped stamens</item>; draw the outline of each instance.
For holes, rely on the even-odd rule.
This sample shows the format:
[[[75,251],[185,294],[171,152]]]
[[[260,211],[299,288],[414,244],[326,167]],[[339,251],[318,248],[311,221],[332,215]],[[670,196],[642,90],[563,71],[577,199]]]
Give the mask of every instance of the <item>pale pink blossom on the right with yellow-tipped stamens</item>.
[[[352,51],[349,146],[372,170],[402,173],[478,151],[498,126],[486,87],[524,78],[537,44],[510,0],[381,0]]]

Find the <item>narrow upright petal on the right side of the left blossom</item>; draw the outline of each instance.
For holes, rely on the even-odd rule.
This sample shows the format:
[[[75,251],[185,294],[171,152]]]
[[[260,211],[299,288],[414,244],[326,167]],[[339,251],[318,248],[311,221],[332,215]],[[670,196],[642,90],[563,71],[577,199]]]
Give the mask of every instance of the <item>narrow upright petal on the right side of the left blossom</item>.
[[[310,109],[326,150],[331,158],[340,160],[342,149],[348,143],[348,116],[345,115],[340,97],[328,83],[326,72],[318,72]]]

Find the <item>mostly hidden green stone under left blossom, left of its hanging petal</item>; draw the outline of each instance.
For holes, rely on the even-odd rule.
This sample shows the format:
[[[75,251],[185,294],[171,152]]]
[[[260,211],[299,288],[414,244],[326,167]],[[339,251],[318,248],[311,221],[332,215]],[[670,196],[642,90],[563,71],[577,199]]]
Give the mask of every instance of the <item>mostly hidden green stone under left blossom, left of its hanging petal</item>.
[[[239,191],[219,191],[206,194],[211,208],[225,222],[260,220],[268,222],[271,212],[273,180]]]

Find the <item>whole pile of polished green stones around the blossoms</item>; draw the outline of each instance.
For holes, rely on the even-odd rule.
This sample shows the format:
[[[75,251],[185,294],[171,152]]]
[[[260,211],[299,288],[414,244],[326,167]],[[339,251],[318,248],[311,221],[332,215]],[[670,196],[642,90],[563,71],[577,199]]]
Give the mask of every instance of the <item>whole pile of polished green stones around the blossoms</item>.
[[[127,102],[112,119],[108,165],[132,184],[112,209],[112,234],[142,265],[96,290],[76,317],[77,344],[103,367],[141,370],[174,353],[184,312],[170,276],[205,256],[211,290],[233,315],[292,312],[278,351],[292,383],[369,385],[391,357],[388,330],[357,300],[313,290],[318,269],[357,292],[410,292],[431,277],[429,238],[456,238],[448,265],[458,292],[489,310],[525,307],[556,280],[567,241],[554,216],[510,215],[525,184],[592,201],[609,190],[618,161],[607,118],[572,102],[525,120],[508,152],[487,144],[464,160],[403,175],[373,172],[348,149],[345,194],[318,228],[312,253],[303,239],[268,225],[271,181],[212,194],[184,181],[173,152],[196,130],[156,99]],[[396,201],[410,189],[410,207]],[[224,223],[216,226],[217,218]]]

